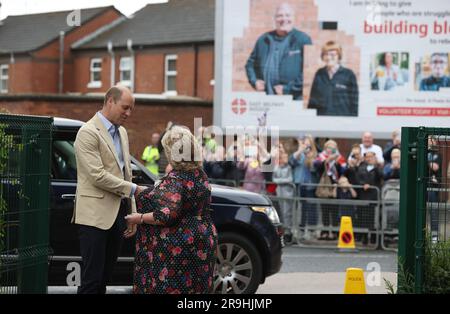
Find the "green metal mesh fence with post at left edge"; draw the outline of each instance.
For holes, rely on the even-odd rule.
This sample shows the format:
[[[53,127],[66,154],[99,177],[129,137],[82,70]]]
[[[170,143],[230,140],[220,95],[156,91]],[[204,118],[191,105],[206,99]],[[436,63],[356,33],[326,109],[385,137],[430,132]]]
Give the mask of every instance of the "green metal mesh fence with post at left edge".
[[[0,114],[0,294],[47,292],[52,125]]]

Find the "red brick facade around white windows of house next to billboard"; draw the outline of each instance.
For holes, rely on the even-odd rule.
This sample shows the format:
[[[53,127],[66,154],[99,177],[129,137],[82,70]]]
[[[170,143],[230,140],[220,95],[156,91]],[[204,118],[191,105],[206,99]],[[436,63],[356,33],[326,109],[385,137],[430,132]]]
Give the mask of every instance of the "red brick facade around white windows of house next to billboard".
[[[120,57],[129,56],[121,50],[115,52],[115,81],[120,79]],[[177,92],[178,95],[200,97],[212,100],[214,88],[210,81],[214,78],[214,46],[212,44],[198,47],[197,77],[195,69],[195,48],[193,46],[163,47],[135,50],[135,93],[162,94],[164,92],[165,56],[177,55]],[[102,87],[87,88],[90,80],[89,66],[91,58],[102,58]],[[106,51],[80,51],[75,53],[73,62],[73,91],[106,92],[110,87],[110,55]],[[197,91],[195,91],[195,77]]]

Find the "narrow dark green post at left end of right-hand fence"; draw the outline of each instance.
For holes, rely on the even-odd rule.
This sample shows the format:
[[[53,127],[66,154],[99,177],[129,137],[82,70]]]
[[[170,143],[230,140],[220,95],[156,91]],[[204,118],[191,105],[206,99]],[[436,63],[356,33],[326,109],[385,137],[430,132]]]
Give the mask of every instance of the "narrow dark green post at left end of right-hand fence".
[[[398,260],[407,276],[415,274],[416,195],[417,184],[417,128],[402,128],[400,220]],[[409,196],[409,197],[408,197]],[[399,269],[401,269],[399,265]],[[400,277],[397,277],[400,278]],[[403,282],[397,281],[398,291],[404,291]]]

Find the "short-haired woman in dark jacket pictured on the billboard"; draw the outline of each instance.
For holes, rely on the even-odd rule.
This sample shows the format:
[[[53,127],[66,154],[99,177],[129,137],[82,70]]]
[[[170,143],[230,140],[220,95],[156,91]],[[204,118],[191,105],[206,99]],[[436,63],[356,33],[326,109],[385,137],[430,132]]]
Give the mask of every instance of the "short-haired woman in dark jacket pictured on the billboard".
[[[313,80],[308,108],[318,116],[358,116],[358,83],[352,70],[341,65],[342,48],[334,41],[322,47],[325,63]]]

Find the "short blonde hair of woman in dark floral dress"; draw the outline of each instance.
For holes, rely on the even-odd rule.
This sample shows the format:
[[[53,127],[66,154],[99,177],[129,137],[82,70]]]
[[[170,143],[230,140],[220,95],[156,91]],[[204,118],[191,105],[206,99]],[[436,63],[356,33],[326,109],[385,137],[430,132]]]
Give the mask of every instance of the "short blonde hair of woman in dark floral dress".
[[[193,170],[202,167],[202,148],[187,127],[171,127],[161,142],[173,169]]]

